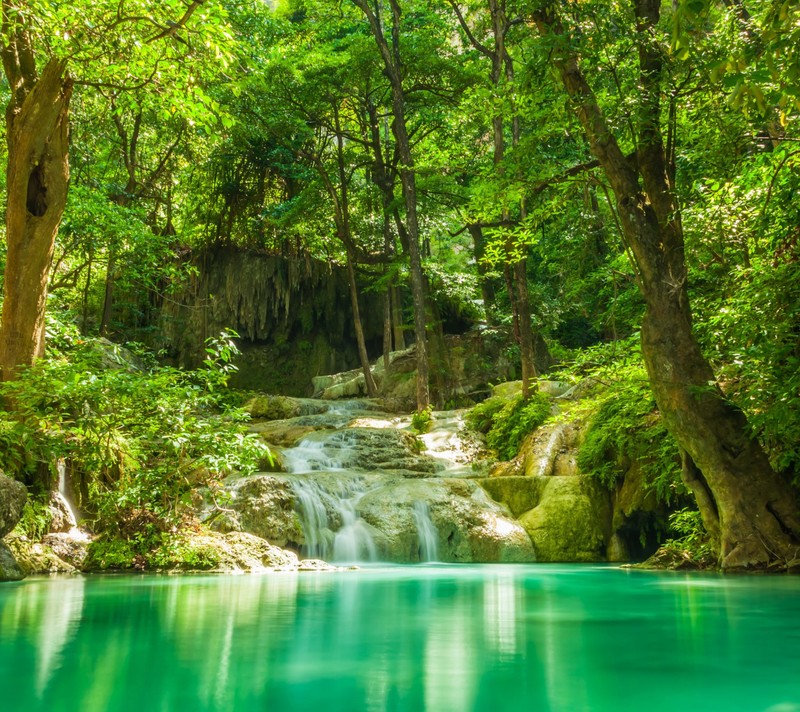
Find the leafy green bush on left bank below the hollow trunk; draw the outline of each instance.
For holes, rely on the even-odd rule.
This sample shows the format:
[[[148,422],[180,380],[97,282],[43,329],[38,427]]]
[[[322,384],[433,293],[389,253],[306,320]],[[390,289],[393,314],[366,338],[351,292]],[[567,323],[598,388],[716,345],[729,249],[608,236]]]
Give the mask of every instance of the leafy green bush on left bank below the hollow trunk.
[[[95,528],[123,538],[169,531],[194,488],[252,471],[268,454],[245,432],[244,411],[224,404],[230,334],[209,342],[195,372],[113,367],[95,347],[76,343],[3,384],[15,408],[0,420],[2,467],[33,481],[66,460],[88,481],[82,506]]]

